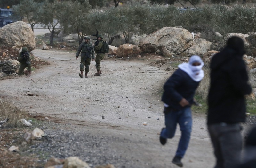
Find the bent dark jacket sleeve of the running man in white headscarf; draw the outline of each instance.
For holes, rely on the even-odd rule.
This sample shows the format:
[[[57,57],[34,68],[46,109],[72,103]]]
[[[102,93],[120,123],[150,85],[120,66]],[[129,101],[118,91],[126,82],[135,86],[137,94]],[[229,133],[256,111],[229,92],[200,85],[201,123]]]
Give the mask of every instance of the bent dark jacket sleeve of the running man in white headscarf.
[[[179,87],[183,81],[183,75],[175,71],[164,84],[164,92],[166,96],[170,97],[176,102],[180,102],[183,97],[176,91],[175,88]]]

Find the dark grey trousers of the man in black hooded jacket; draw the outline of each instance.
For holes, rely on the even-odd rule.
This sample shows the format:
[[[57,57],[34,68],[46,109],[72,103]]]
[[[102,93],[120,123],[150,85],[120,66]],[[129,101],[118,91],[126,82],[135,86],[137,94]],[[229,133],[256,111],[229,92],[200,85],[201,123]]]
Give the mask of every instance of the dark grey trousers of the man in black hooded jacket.
[[[208,125],[217,160],[214,168],[234,168],[241,163],[241,129],[239,123],[227,124],[222,122]]]

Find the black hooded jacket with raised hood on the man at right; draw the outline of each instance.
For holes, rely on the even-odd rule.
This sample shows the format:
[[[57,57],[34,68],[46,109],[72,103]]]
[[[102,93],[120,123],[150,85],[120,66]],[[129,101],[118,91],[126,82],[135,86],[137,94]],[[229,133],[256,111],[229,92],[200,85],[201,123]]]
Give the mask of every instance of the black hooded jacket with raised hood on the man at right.
[[[227,46],[213,56],[208,95],[208,121],[214,123],[245,122],[245,98],[252,92],[243,60],[244,42],[231,37]]]

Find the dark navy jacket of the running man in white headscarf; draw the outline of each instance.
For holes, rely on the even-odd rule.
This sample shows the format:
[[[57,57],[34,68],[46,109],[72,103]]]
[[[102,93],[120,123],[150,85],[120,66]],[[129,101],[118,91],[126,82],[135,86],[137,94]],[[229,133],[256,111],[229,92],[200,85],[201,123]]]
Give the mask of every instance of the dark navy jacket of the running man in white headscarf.
[[[189,104],[193,104],[196,88],[200,81],[196,82],[181,69],[176,70],[164,84],[162,101],[174,110],[181,110],[179,102],[185,98]]]

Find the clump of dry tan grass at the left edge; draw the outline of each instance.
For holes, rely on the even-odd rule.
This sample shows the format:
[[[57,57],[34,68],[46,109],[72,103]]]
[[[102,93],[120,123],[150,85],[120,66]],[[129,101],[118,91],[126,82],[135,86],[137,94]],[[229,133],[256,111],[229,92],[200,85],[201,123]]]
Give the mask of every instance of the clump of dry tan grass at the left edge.
[[[3,124],[5,127],[22,127],[24,124],[20,121],[27,118],[25,110],[21,110],[13,105],[10,101],[2,101],[0,99],[0,121],[8,119]]]

